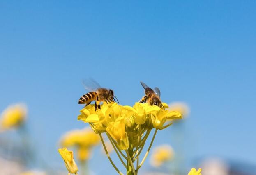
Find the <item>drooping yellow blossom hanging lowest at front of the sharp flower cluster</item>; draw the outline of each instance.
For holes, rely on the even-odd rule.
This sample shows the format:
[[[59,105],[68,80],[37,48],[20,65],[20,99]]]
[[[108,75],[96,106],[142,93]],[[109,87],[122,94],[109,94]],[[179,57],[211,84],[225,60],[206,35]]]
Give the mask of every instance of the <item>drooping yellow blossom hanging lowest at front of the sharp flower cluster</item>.
[[[115,122],[109,123],[106,128],[109,135],[118,143],[121,150],[125,150],[129,147],[129,140],[127,133],[125,132],[125,118],[120,117]]]

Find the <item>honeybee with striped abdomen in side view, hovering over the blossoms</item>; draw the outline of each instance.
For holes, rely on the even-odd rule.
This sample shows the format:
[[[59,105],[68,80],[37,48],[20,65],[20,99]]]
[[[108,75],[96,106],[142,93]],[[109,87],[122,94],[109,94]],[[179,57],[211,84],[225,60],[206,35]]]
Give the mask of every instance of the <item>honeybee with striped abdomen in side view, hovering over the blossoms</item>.
[[[93,80],[90,80],[90,83],[92,83],[92,86],[94,86],[93,88],[88,87],[85,83],[84,85],[88,91],[92,91],[92,92],[88,92],[87,94],[84,94],[83,96],[81,96],[81,98],[78,101],[78,104],[85,104],[85,106],[87,106],[90,103],[92,103],[92,101],[95,101],[95,110],[97,110],[97,108],[100,109],[99,103],[101,101],[106,101],[107,103],[116,102],[115,99],[118,101],[118,99],[114,95],[113,90],[107,89],[107,88],[101,88],[100,85]]]

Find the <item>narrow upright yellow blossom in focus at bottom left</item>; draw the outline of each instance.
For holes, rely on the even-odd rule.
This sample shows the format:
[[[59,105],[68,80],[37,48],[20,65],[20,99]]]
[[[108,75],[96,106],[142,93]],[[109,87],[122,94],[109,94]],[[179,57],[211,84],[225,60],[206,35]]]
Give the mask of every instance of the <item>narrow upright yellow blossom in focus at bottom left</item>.
[[[58,149],[58,151],[64,160],[69,173],[77,174],[78,168],[76,162],[73,159],[73,151],[69,151],[67,148]]]

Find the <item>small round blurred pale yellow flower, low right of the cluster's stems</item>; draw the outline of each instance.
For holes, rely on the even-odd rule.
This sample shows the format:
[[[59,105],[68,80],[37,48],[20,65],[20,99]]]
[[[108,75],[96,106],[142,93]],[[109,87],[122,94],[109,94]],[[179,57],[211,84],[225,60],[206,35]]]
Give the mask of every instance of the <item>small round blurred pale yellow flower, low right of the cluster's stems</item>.
[[[152,150],[150,164],[158,167],[173,159],[174,152],[170,145],[157,146]]]

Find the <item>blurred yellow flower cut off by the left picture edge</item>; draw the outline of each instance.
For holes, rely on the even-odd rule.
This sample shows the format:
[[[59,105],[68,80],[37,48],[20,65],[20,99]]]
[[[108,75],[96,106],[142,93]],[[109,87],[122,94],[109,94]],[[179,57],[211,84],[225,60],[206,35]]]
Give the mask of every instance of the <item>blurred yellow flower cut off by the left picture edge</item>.
[[[27,116],[27,108],[23,104],[9,106],[1,114],[0,127],[2,130],[21,126]]]

